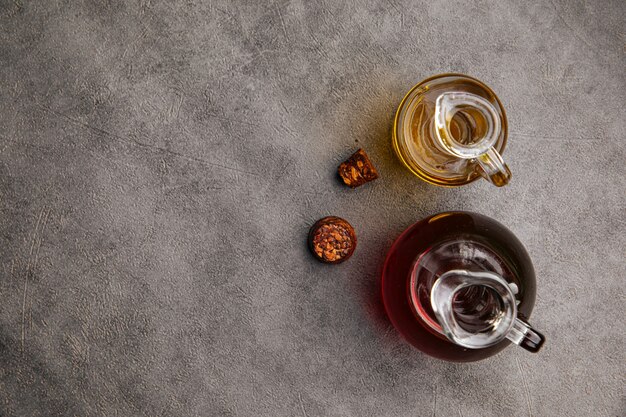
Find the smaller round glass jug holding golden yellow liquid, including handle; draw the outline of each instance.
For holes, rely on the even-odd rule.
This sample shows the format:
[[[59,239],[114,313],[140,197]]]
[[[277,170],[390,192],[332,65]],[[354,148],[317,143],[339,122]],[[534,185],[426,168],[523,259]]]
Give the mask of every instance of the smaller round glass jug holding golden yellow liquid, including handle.
[[[501,187],[511,178],[502,160],[507,120],[495,93],[475,78],[442,74],[408,92],[393,129],[402,163],[425,181],[459,186],[484,177]]]

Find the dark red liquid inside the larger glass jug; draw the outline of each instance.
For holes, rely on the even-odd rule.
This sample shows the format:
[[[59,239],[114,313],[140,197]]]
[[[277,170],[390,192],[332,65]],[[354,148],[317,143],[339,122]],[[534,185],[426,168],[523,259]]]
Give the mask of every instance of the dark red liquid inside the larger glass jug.
[[[483,349],[456,345],[442,333],[430,305],[430,288],[451,269],[492,271],[515,289],[521,317],[535,304],[535,272],[521,242],[489,217],[449,212],[409,227],[391,247],[382,278],[387,314],[398,331],[419,350],[445,360],[469,362],[487,358],[509,345],[505,339]],[[459,294],[454,311],[466,330],[480,331],[497,300],[484,287]]]

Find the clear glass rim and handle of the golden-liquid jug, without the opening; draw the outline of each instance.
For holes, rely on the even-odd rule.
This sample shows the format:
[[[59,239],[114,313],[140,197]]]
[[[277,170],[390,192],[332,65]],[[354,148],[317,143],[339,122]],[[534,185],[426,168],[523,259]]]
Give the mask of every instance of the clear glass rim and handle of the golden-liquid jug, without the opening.
[[[471,108],[484,119],[485,134],[473,138],[472,143],[460,143],[450,131],[454,115]],[[463,91],[446,92],[435,102],[435,132],[439,145],[448,153],[463,159],[474,159],[481,168],[481,175],[492,184],[502,187],[509,183],[511,170],[495,149],[502,131],[500,116],[493,104],[485,98]]]

